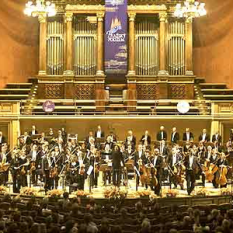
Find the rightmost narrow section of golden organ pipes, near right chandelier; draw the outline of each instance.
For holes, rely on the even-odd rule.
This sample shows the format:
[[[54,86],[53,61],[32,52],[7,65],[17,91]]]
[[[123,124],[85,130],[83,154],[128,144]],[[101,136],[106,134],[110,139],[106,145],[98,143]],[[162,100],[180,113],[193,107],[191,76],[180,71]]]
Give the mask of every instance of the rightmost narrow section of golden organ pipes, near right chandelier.
[[[185,22],[181,20],[168,23],[168,72],[185,75]]]

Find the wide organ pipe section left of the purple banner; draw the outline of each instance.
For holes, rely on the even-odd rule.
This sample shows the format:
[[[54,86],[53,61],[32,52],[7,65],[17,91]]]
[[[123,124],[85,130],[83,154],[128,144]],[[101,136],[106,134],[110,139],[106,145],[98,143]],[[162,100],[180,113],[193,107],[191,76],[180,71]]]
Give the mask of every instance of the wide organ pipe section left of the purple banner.
[[[97,54],[97,26],[87,21],[87,17],[75,16],[74,35],[74,74],[95,75]]]

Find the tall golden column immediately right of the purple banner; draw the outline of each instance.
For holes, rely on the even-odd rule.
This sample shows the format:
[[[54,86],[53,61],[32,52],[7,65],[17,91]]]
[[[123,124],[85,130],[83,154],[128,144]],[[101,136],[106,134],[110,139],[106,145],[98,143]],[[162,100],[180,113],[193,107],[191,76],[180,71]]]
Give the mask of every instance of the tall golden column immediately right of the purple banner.
[[[136,17],[136,13],[129,13],[129,71],[128,71],[128,76],[135,75],[135,17]]]

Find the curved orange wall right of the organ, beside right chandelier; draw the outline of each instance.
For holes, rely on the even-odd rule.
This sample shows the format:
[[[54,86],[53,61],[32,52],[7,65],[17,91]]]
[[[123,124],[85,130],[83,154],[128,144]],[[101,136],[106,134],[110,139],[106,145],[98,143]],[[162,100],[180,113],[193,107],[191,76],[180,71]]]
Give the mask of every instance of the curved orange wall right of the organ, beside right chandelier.
[[[233,1],[201,1],[207,16],[194,20],[194,73],[233,88]]]

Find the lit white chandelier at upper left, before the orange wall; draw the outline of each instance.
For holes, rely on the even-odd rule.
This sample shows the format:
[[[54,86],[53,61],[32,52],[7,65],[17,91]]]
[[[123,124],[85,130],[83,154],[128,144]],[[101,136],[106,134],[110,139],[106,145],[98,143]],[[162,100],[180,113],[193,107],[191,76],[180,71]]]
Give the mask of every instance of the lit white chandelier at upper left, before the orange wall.
[[[45,0],[36,0],[33,4],[32,1],[26,3],[24,14],[27,16],[37,17],[41,14],[46,14],[48,17],[55,16],[57,13],[54,3]]]

